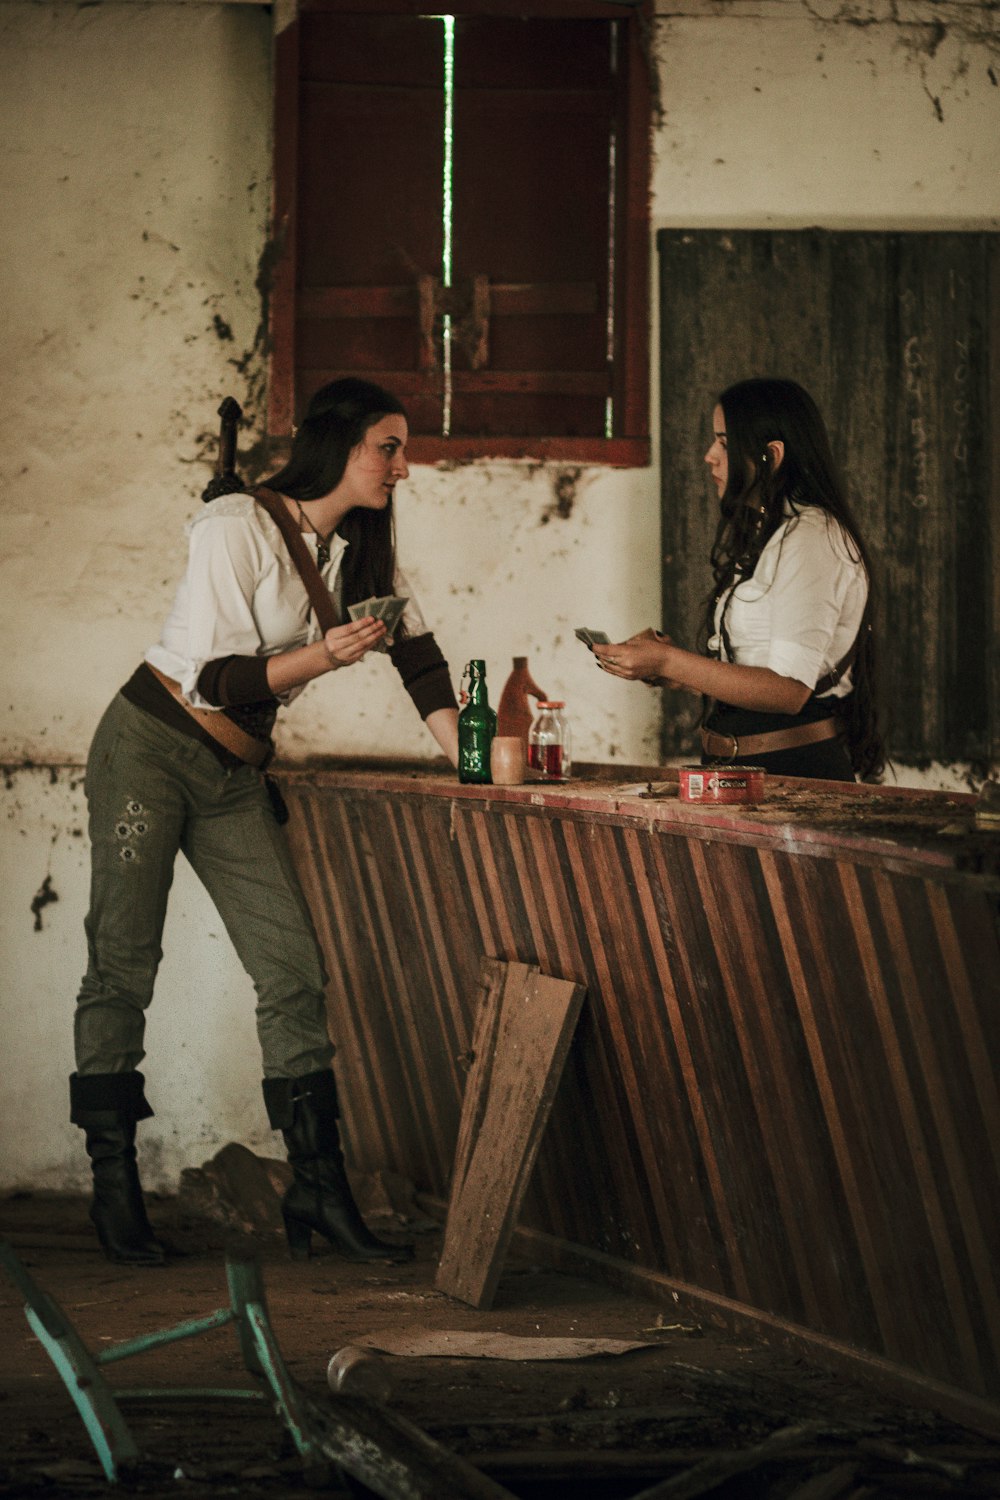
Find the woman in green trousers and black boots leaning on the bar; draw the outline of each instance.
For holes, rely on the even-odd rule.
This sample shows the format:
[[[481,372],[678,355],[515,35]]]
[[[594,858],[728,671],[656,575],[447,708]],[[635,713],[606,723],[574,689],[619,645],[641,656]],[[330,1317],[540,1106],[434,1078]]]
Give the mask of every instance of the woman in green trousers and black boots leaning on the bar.
[[[136,1122],[153,1113],[136,1070],[178,850],[256,988],[264,1104],[294,1172],[283,1200],[292,1254],[307,1254],[315,1230],[348,1258],[400,1258],[400,1246],[367,1230],[345,1174],[327,975],[264,768],[279,706],[385,639],[385,624],[372,616],[319,627],[282,536],[289,522],[339,618],[369,597],[409,597],[388,654],[457,762],[448,666],[396,566],[393,494],[408,474],[406,438],[403,408],[379,387],[342,380],[319,390],[289,462],[267,482],[265,504],[225,495],[190,522],[187,570],[160,639],[97,728],[85,776],[88,966],[70,1118],[85,1134],[90,1216],[109,1260],[163,1260],[136,1168]],[[340,700],[349,711],[346,684]]]

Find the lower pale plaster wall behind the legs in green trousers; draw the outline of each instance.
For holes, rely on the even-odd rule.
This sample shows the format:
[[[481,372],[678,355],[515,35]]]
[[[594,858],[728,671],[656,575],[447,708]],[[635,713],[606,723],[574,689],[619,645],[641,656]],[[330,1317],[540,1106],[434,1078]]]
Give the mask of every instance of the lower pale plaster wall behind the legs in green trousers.
[[[3,778],[0,819],[0,1190],[82,1188],[90,1167],[69,1124],[73,1002],[85,963],[87,807],[75,766]],[[219,1024],[205,1024],[205,1014]],[[228,1140],[280,1155],[259,1089],[253,990],[211,903],[183,860],[171,891],[163,963],[147,1024],[156,1116],[142,1126],[150,1186]]]

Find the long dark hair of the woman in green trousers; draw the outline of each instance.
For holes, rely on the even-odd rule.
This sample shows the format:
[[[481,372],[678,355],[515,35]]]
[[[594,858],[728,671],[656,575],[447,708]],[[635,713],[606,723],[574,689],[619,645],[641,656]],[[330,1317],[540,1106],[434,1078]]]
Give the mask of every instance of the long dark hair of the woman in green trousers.
[[[264,483],[289,500],[321,500],[343,478],[351,452],[382,417],[406,416],[402,402],[366,380],[345,378],[321,386],[306,408],[283,468]],[[394,591],[396,525],[393,501],[384,510],[349,510],[339,534],[349,542],[343,556],[343,603],[381,598]],[[396,627],[396,638],[406,630]]]

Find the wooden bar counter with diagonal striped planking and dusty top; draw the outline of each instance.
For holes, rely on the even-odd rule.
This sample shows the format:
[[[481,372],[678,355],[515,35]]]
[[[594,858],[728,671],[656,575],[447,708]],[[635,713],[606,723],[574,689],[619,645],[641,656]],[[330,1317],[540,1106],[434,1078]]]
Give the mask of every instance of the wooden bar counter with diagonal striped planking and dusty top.
[[[1000,1431],[1000,836],[975,798],[280,772],[357,1167],[445,1202],[478,964],[586,986],[537,1258]]]

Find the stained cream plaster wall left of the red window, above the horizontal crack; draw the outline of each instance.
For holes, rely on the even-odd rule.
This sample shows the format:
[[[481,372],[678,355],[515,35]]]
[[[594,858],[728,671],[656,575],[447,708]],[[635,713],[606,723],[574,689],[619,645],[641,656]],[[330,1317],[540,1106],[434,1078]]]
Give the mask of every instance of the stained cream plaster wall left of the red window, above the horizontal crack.
[[[0,57],[0,754],[75,760],[169,604],[253,342],[270,24],[4,4]]]

